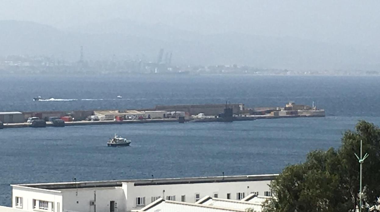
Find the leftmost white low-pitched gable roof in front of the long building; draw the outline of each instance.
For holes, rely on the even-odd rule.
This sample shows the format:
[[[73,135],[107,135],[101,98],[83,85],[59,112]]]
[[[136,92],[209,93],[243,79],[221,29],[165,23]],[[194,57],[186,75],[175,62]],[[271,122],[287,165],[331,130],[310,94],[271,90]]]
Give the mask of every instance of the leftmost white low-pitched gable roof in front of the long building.
[[[245,212],[245,209],[235,209],[228,207],[220,207],[220,206],[209,206],[203,204],[195,204],[195,203],[186,203],[179,201],[171,201],[171,200],[163,200],[162,198],[150,203],[149,205],[143,207],[139,210],[133,211],[152,211],[152,212],[179,212],[179,211],[198,211],[202,209],[202,211],[231,211],[231,212]]]

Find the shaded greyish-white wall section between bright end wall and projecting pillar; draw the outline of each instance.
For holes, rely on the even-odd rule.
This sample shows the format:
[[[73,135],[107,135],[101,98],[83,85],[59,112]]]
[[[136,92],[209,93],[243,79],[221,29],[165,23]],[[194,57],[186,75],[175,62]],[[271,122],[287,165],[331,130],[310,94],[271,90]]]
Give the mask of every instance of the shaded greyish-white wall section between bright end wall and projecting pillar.
[[[115,212],[125,211],[125,195],[122,187],[60,189],[63,196],[63,209],[78,212],[94,212],[90,201],[94,200],[96,193],[96,212],[109,212],[110,201],[115,201]],[[78,201],[78,203],[77,203]]]

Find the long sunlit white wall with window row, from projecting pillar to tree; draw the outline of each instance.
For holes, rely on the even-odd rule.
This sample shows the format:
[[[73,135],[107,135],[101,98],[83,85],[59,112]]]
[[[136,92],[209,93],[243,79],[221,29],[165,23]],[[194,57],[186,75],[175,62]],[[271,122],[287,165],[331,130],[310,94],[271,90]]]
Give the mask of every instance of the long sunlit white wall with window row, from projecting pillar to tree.
[[[218,198],[227,198],[227,193],[231,193],[231,199],[236,200],[236,193],[244,192],[245,196],[251,192],[259,192],[264,195],[265,191],[270,191],[268,184],[271,181],[245,181],[245,182],[214,182],[214,183],[193,183],[193,184],[171,184],[171,185],[148,185],[134,186],[133,182],[124,182],[122,188],[127,194],[127,211],[141,209],[136,207],[136,197],[145,197],[145,205],[151,203],[152,196],[176,196],[176,201],[181,201],[181,196],[185,195],[185,201],[195,203],[195,194],[199,193],[199,198],[206,195],[214,196],[218,193]],[[127,192],[128,190],[128,192]],[[163,192],[165,190],[165,193]]]

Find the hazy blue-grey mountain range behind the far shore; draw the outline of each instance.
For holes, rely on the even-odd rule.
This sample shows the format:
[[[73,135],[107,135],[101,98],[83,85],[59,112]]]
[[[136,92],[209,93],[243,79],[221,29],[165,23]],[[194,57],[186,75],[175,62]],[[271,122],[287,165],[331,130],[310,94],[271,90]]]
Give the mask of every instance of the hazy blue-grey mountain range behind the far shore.
[[[239,64],[294,70],[378,70],[380,50],[340,44],[239,33],[199,34],[163,24],[111,20],[67,29],[34,22],[0,21],[0,56],[54,55],[76,61],[135,58],[157,61],[160,48],[173,51],[174,64]]]

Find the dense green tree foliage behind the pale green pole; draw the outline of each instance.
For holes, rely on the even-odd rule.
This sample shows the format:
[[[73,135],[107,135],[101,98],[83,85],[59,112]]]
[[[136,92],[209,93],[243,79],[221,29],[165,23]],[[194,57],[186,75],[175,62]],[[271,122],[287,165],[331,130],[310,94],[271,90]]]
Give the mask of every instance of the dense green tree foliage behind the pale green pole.
[[[264,212],[356,212],[359,205],[359,162],[354,153],[369,157],[363,164],[363,211],[378,211],[380,197],[380,129],[359,121],[346,131],[338,150],[312,151],[302,164],[286,167],[271,182],[273,197]]]

